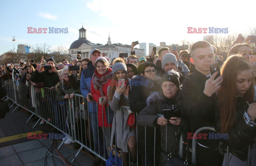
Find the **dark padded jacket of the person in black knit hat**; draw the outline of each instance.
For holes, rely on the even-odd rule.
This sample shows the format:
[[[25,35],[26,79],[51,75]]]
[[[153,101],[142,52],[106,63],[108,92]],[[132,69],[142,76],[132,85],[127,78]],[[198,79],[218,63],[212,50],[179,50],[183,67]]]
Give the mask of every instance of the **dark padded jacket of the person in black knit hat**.
[[[182,94],[181,90],[176,92],[173,99],[167,99],[163,92],[153,92],[147,99],[147,106],[137,116],[137,123],[141,126],[160,127],[161,132],[161,150],[166,152],[166,126],[157,124],[159,115],[163,116],[163,109],[170,109],[172,105],[180,107],[179,112],[183,112],[182,107]],[[181,113],[182,115],[183,113]],[[178,154],[179,139],[181,132],[187,131],[188,122],[185,118],[181,117],[181,124],[179,126],[167,124],[167,152]]]

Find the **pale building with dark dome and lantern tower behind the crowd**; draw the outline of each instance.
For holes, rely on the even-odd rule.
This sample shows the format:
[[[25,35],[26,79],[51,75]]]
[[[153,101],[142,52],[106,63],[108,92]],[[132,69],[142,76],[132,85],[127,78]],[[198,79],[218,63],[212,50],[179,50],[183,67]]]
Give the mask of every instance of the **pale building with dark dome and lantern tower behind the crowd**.
[[[78,40],[71,43],[69,47],[69,55],[71,57],[77,57],[77,51],[81,51],[81,58],[88,57],[90,58],[90,52],[92,49],[98,48],[101,53],[106,53],[106,56],[111,60],[113,58],[117,58],[119,53],[128,53],[131,55],[131,45],[122,45],[121,43],[111,43],[110,34],[108,36],[108,41],[106,45],[95,44],[86,39],[86,29],[83,27],[79,29],[79,38]],[[135,55],[137,57],[146,56],[145,51],[143,49],[134,48]]]

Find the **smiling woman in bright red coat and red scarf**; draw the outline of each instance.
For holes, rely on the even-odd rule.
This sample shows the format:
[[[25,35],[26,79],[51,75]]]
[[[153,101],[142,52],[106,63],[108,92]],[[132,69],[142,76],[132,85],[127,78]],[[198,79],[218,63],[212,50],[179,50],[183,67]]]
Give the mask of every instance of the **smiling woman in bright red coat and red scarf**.
[[[112,77],[112,69],[108,64],[108,60],[105,57],[99,57],[95,60],[95,73],[92,76],[91,83],[91,93],[93,100],[98,102],[98,122],[99,127],[102,128],[105,138],[105,145],[109,147],[110,145],[110,133],[111,133],[111,124],[107,123],[107,117],[105,108],[110,109],[108,105],[107,98],[107,89]],[[100,102],[100,98],[101,102]],[[102,110],[103,109],[103,110]],[[103,116],[102,116],[103,113]],[[102,120],[103,117],[103,120]],[[105,147],[105,148],[106,148]],[[109,152],[108,152],[109,155]]]

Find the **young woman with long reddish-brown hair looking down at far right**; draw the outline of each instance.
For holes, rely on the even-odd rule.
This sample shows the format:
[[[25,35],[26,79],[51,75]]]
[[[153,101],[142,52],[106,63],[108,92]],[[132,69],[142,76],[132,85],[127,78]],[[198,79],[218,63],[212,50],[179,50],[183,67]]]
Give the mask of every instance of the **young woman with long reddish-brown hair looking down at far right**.
[[[250,165],[256,165],[256,103],[253,87],[253,71],[241,55],[228,57],[221,68],[223,82],[218,90],[218,110],[215,129],[228,133],[221,139],[220,148],[229,146],[229,165],[245,166],[249,162],[248,148],[251,145]],[[225,153],[222,165],[226,164]]]

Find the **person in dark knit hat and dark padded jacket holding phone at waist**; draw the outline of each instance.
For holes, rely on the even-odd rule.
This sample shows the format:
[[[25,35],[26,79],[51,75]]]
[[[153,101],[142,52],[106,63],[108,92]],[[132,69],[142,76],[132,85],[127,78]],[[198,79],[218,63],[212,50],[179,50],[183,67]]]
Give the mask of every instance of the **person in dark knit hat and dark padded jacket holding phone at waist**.
[[[179,138],[181,129],[186,130],[187,123],[182,117],[164,118],[163,110],[174,111],[170,108],[179,108],[177,112],[184,111],[182,106],[182,94],[180,89],[179,73],[177,71],[170,71],[161,78],[160,92],[153,92],[147,99],[147,106],[138,114],[137,123],[141,126],[160,127],[161,135],[161,151],[167,154],[172,153],[172,156],[178,156]],[[176,112],[176,113],[177,113]],[[166,133],[166,125],[168,132]],[[167,140],[166,139],[167,134]],[[166,151],[167,143],[167,151]],[[156,145],[157,146],[157,145]],[[155,152],[159,154],[159,152]],[[158,158],[156,158],[158,159]],[[158,160],[156,160],[158,161]],[[159,160],[156,165],[162,165]]]

